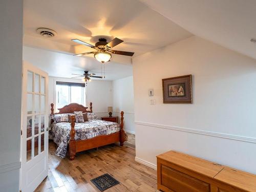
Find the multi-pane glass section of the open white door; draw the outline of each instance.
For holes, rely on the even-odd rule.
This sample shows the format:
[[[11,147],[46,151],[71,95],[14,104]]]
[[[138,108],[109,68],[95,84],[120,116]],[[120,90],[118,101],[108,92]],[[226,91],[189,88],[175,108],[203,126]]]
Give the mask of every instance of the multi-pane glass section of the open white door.
[[[27,161],[45,150],[46,77],[27,72]]]

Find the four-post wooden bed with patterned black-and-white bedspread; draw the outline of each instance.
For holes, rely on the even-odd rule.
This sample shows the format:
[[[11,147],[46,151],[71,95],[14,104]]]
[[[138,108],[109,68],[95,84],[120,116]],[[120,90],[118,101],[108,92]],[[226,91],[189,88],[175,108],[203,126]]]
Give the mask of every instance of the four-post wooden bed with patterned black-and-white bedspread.
[[[78,111],[93,113],[92,103],[90,103],[90,110],[78,103],[70,103],[58,110],[59,113],[54,113],[54,104],[51,103],[51,117],[56,114],[71,114]],[[56,123],[51,118],[50,138],[58,145],[55,154],[61,158],[68,154],[70,160],[74,160],[78,152],[115,142],[120,142],[120,145],[123,146],[126,133],[123,129],[124,113],[120,114],[120,124],[94,118],[90,118],[86,122],[75,123],[75,116],[70,116],[71,123],[67,121]]]

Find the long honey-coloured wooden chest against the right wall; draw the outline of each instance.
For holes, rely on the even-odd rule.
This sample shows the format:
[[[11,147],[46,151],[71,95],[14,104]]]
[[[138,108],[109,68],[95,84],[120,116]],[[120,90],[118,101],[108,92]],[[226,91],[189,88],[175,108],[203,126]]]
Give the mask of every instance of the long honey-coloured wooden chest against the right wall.
[[[175,192],[256,191],[256,176],[169,151],[157,156],[157,188]]]

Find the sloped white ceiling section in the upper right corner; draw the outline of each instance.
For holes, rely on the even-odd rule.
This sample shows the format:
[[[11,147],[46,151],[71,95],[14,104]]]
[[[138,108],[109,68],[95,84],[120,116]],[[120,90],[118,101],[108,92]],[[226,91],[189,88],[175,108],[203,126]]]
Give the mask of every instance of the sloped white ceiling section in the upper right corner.
[[[189,32],[256,59],[255,0],[140,0]]]

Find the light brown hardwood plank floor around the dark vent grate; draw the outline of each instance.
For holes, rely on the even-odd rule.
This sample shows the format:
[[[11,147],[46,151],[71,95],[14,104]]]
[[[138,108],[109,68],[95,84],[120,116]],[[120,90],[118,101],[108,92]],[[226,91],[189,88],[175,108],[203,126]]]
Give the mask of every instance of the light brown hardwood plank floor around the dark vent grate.
[[[157,191],[156,170],[135,162],[135,136],[123,147],[119,143],[88,150],[75,160],[55,156],[56,145],[49,142],[49,174],[35,191],[100,191],[90,180],[109,173],[120,184],[108,191]]]

